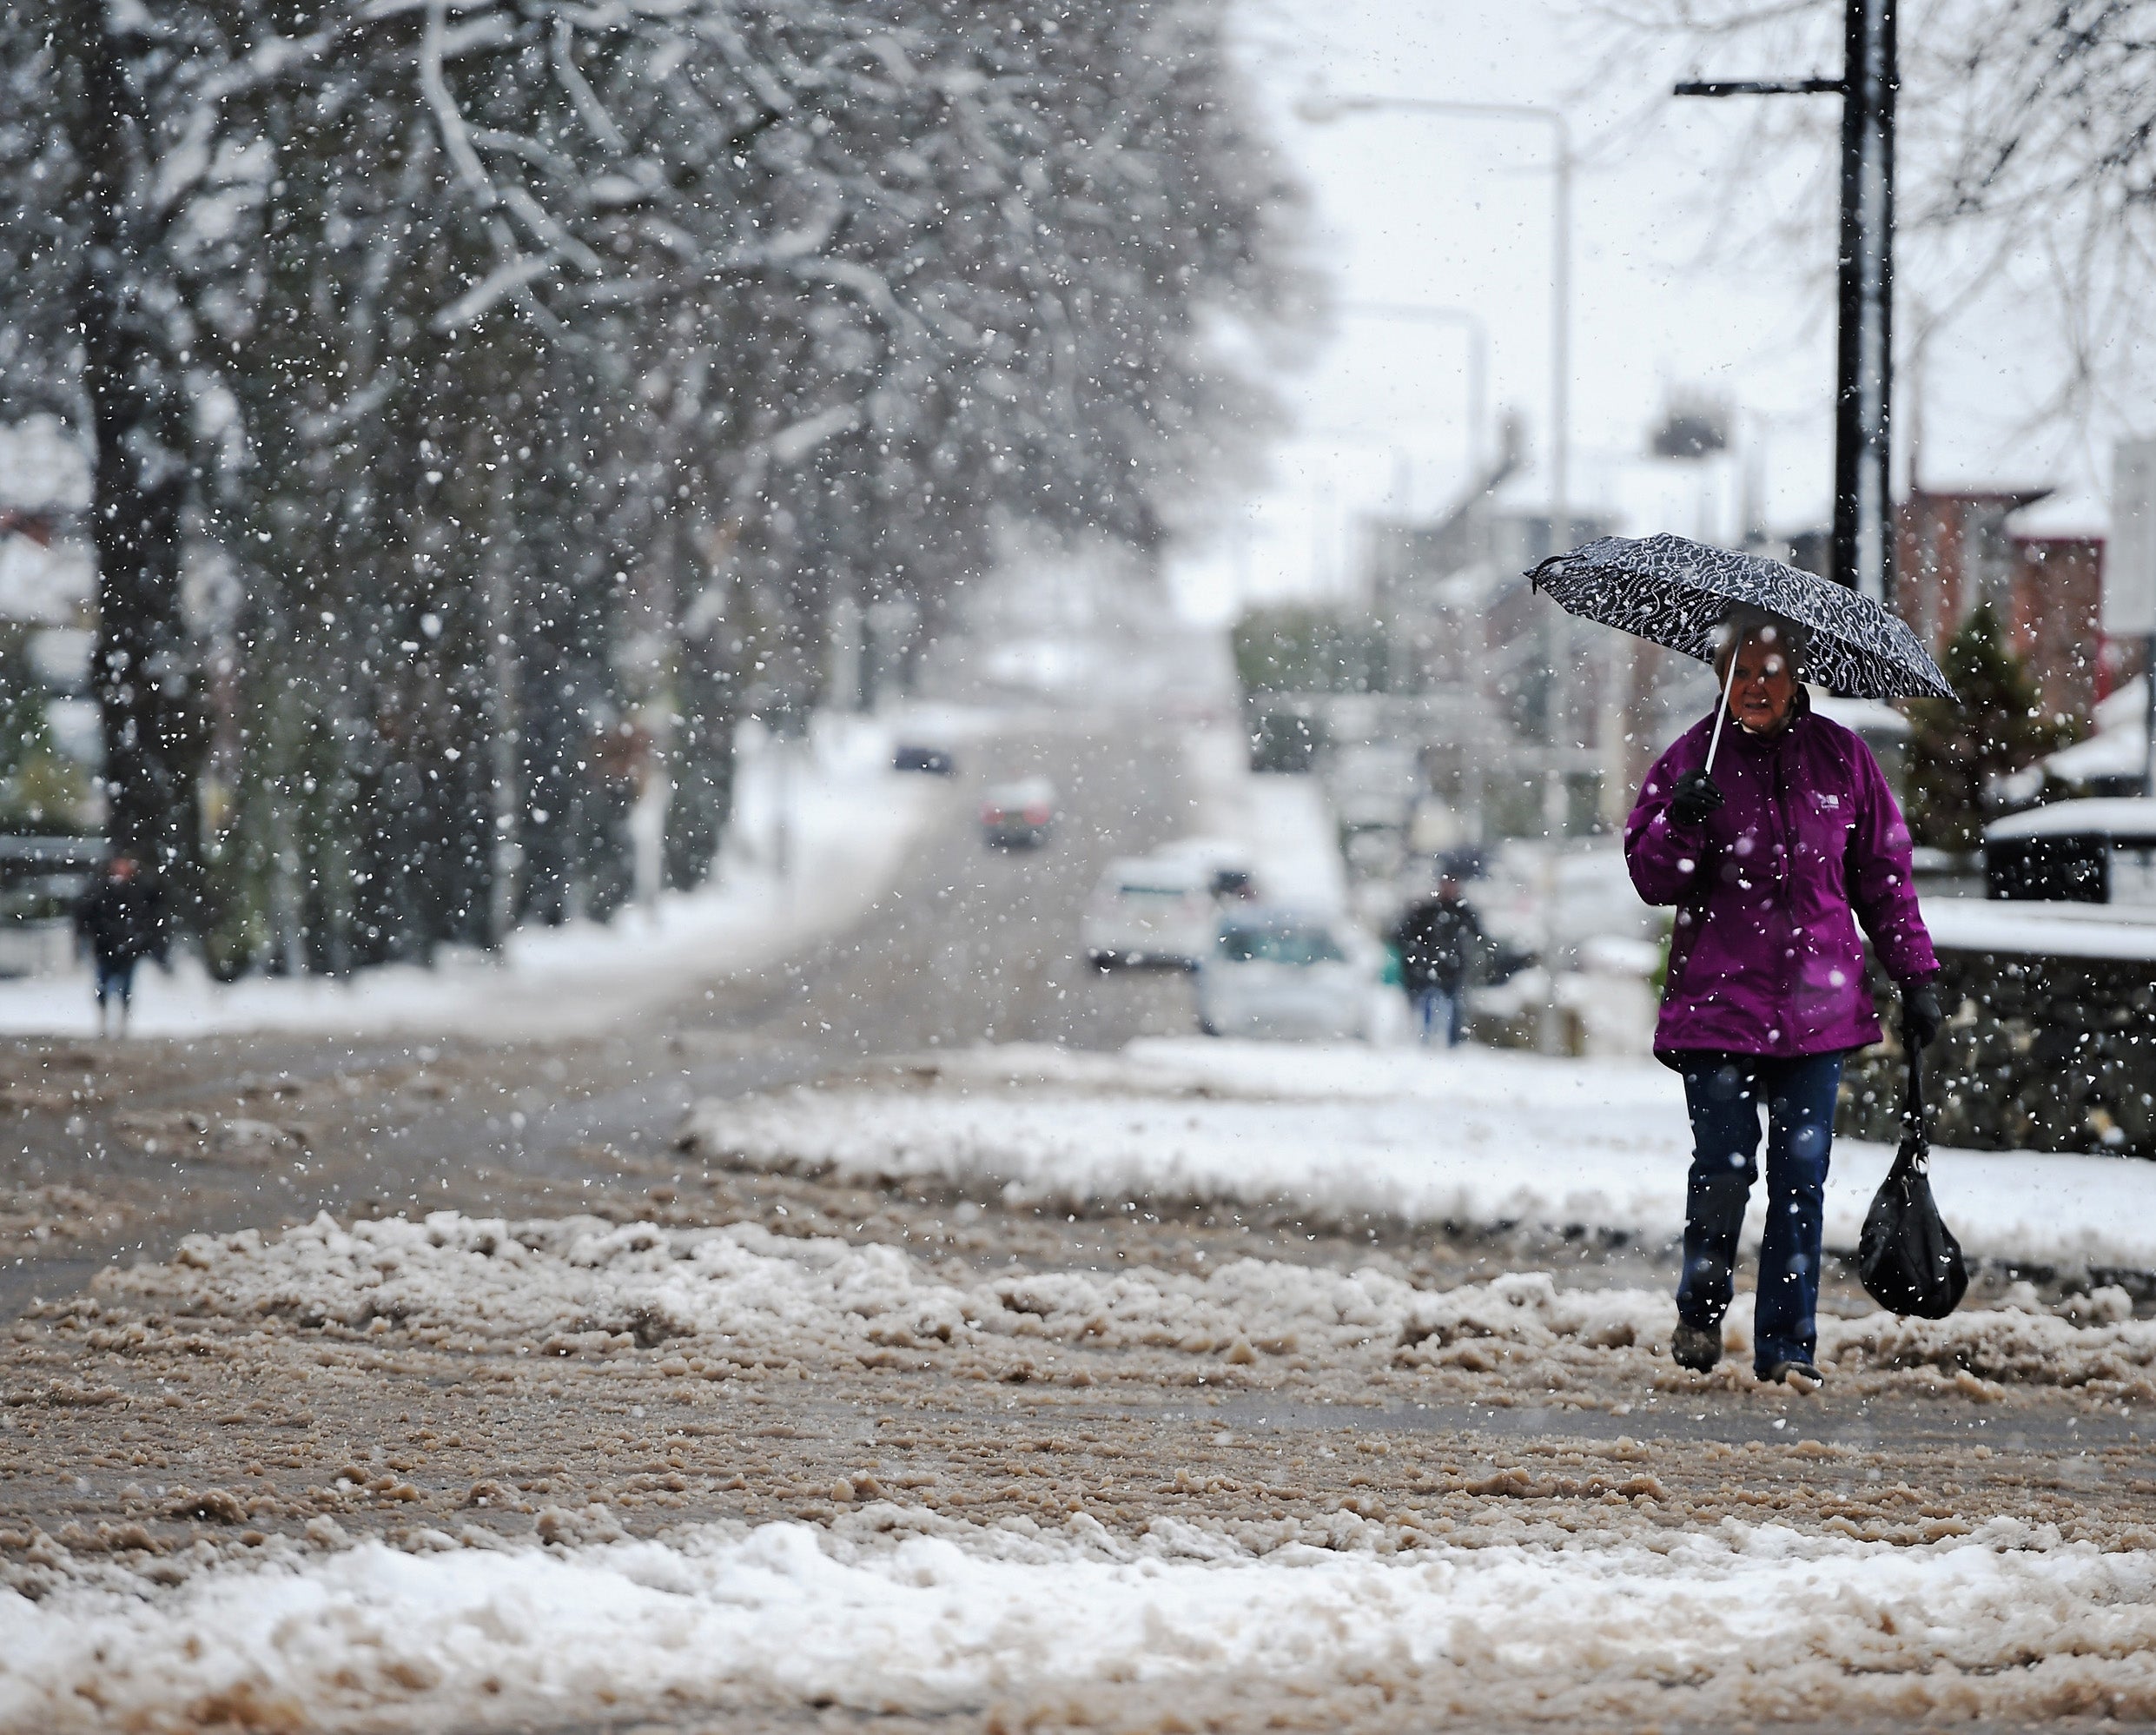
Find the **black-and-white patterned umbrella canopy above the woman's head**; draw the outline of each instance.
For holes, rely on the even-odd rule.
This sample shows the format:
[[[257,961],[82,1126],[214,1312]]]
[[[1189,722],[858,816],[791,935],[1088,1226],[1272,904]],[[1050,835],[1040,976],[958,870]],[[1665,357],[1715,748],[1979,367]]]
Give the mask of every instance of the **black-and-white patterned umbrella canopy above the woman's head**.
[[[1846,698],[1953,698],[1908,625],[1846,584],[1759,554],[1667,530],[1602,537],[1531,573],[1567,612],[1714,662],[1731,614],[1772,614],[1805,631],[1805,679]]]

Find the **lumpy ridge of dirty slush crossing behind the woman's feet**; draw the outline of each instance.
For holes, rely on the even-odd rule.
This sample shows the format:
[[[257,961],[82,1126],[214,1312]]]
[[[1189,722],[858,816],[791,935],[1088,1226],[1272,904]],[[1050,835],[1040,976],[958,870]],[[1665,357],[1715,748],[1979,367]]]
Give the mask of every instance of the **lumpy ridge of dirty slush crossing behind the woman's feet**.
[[[444,1349],[539,1354],[666,1345],[683,1371],[722,1377],[776,1356],[873,1356],[992,1338],[1164,1349],[1253,1364],[1270,1356],[1369,1354],[1395,1366],[1488,1366],[1475,1345],[1548,1351],[1667,1345],[1667,1293],[1572,1289],[1514,1272],[1416,1289],[1380,1269],[1235,1259],[1203,1276],[1158,1269],[975,1276],[890,1246],[780,1237],[759,1224],[662,1229],[599,1218],[505,1222],[438,1211],[330,1218],[278,1237],[192,1235],[170,1265],[106,1272],[103,1297],[233,1319],[285,1317],[345,1332],[403,1332]],[[1742,1321],[1733,1341],[1742,1341]],[[1878,1313],[1826,1319],[1822,1362],[1936,1366],[1979,1379],[2147,1388],[2156,1321],[2124,1291],[2078,1297],[2072,1317],[2033,1291],[1943,1321]]]

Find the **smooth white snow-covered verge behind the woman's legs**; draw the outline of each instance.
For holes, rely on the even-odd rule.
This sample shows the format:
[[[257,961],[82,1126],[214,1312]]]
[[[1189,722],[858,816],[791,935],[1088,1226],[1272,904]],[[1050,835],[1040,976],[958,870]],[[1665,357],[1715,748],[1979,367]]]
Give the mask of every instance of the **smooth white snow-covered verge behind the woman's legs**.
[[[940,1056],[888,1086],[709,1101],[683,1138],[709,1162],[934,1179],[1011,1203],[1231,1203],[1649,1246],[1682,1235],[1690,1162],[1682,1084],[1654,1063],[1197,1039]],[[1837,1142],[1830,1248],[1854,1250],[1891,1160]],[[1977,1259],[2156,1269],[2156,1164],[1938,1151],[1932,1188]]]

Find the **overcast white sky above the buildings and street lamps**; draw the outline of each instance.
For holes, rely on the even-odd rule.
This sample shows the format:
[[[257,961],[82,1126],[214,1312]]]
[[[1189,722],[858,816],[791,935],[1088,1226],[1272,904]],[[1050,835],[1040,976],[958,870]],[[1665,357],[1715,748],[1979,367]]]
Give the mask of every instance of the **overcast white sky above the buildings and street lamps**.
[[[1274,131],[1311,192],[1313,252],[1343,304],[1464,308],[1490,334],[1490,405],[1524,412],[1531,450],[1548,450],[1550,159],[1548,129],[1520,123],[1348,116],[1313,125],[1296,97],[1335,93],[1514,101],[1565,108],[1583,157],[1574,192],[1572,448],[1574,498],[1591,506],[1613,463],[1643,450],[1671,390],[1714,392],[1738,410],[1774,530],[1824,524],[1833,463],[1830,131],[1813,162],[1774,166],[1766,198],[1809,200],[1818,248],[1761,246],[1731,256],[1708,244],[1751,211],[1718,213],[1733,101],[1643,95],[1677,65],[1595,84],[1606,47],[1583,4],[1505,0],[1242,0],[1242,39]],[[1837,73],[1824,67],[1699,63],[1720,73]],[[1824,103],[1833,97],[1774,101]],[[1764,224],[1759,224],[1764,228]],[[1813,256],[1818,254],[1818,256]],[[1910,261],[1897,308],[1915,330],[1921,276]],[[1350,582],[1354,522],[1408,500],[1427,513],[1466,476],[1466,338],[1460,330],[1343,315],[1313,364],[1283,384],[1296,435],[1242,511],[1177,565],[1199,614],[1244,595]],[[1992,297],[1930,345],[1923,369],[1927,483],[2050,483],[2100,494],[2111,429],[2027,431],[2057,373],[2048,315]],[[1904,356],[1902,472],[1915,369]],[[1485,442],[1490,435],[1485,433]],[[1628,524],[1692,530],[1692,524]]]

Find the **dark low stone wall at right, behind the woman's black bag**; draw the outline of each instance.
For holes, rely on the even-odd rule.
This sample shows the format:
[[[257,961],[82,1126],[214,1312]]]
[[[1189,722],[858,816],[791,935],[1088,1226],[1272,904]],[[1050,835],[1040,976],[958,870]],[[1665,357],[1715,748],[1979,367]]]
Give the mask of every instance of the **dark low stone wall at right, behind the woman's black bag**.
[[[1940,963],[1947,1030],[1925,1054],[1936,1144],[2156,1157],[2156,966],[1953,950]],[[1897,1019],[1887,987],[1880,1022],[1893,1035],[1852,1056],[1841,1132],[1899,1136]]]

